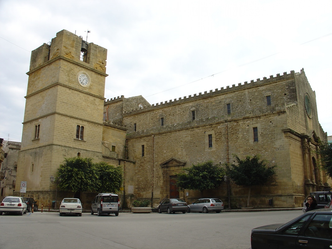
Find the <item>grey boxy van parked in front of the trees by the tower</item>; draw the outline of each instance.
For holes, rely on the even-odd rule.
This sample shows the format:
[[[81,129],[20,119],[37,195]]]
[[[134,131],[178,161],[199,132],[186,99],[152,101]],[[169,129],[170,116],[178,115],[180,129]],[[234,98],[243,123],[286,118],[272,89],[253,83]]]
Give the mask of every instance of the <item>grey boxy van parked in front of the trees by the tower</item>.
[[[91,214],[97,213],[98,216],[102,214],[114,213],[119,215],[120,200],[119,196],[113,193],[100,193],[92,201]]]

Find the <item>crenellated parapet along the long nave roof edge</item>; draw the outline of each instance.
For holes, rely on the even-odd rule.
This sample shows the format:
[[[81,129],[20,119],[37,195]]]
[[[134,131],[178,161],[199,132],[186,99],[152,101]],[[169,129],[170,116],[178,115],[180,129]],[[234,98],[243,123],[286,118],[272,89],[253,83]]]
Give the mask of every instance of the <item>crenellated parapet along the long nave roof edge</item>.
[[[304,73],[303,69],[301,70],[301,73]],[[260,78],[258,78],[256,81],[251,80],[250,83],[245,81],[243,84],[238,83],[237,86],[235,84],[233,84],[231,87],[230,86],[226,86],[226,88],[221,87],[220,90],[218,88],[216,88],[216,89],[214,89],[214,91],[213,90],[210,90],[209,92],[205,91],[204,94],[199,93],[199,94],[189,95],[188,97],[184,96],[183,98],[180,97],[179,99],[174,99],[174,100],[169,100],[169,101],[165,101],[165,102],[152,104],[151,107],[147,107],[147,108],[144,108],[144,109],[138,109],[137,108],[135,110],[130,110],[130,111],[124,112],[124,114],[125,115],[132,115],[132,114],[136,114],[136,113],[140,113],[140,112],[144,112],[144,111],[149,111],[149,110],[153,110],[153,109],[157,109],[157,108],[164,108],[164,107],[168,107],[168,106],[171,106],[171,105],[182,104],[182,103],[193,101],[193,100],[204,99],[204,98],[211,97],[211,96],[226,94],[226,93],[233,92],[233,91],[249,89],[249,88],[252,88],[252,87],[257,87],[258,85],[270,84],[272,82],[290,79],[290,78],[293,78],[294,75],[295,75],[294,70],[290,71],[289,74],[287,72],[284,72],[283,75],[278,73],[275,77],[273,75],[270,75],[270,78],[263,77],[262,80]],[[105,102],[105,104],[106,104],[106,102]]]

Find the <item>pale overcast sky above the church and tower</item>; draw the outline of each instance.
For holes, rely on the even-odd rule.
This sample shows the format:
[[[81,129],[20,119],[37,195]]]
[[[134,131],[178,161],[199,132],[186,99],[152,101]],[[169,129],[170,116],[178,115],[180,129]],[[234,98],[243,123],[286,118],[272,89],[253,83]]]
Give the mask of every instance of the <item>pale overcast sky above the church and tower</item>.
[[[331,0],[0,0],[1,138],[21,141],[31,51],[61,30],[108,50],[106,99],[156,104],[303,68],[332,135]]]

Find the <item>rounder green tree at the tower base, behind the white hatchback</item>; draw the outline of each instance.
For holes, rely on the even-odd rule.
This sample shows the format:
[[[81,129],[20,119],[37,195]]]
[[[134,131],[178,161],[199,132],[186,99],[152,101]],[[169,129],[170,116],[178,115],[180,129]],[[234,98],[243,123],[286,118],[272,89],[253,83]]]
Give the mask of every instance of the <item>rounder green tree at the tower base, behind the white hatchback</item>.
[[[98,179],[92,158],[65,158],[58,168],[56,181],[61,190],[72,191],[79,198],[80,192],[94,191]]]

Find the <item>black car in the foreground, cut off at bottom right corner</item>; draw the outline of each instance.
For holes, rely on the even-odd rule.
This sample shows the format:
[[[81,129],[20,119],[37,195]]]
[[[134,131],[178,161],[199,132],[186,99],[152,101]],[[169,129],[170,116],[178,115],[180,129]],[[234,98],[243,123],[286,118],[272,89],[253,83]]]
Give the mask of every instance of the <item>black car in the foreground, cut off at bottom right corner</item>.
[[[254,228],[251,230],[251,248],[332,248],[332,209],[316,209],[286,224]]]

